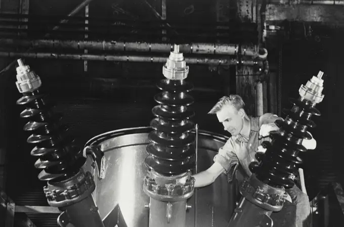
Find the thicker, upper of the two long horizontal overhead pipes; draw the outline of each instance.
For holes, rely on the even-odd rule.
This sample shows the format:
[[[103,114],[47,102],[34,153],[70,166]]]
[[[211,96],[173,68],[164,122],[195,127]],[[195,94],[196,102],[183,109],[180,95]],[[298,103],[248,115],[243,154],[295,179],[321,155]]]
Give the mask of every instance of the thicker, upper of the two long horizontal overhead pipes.
[[[88,41],[88,40],[56,40],[56,39],[0,39],[1,45],[32,48],[61,48],[75,50],[101,50],[101,51],[138,51],[169,53],[173,44],[150,42],[125,42],[125,41]],[[223,43],[184,43],[180,44],[183,54],[208,54],[208,55],[241,55],[265,59],[267,50],[256,45],[239,45]]]

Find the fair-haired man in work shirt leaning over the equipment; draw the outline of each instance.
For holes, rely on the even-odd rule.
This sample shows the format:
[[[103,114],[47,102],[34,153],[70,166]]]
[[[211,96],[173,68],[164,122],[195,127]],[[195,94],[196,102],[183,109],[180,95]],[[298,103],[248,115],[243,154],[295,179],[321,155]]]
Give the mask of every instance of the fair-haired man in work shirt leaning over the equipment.
[[[214,157],[214,163],[205,171],[195,174],[195,187],[210,185],[223,172],[228,173],[233,165],[240,163],[247,176],[252,173],[248,166],[256,161],[255,153],[263,141],[270,141],[269,132],[278,130],[274,123],[279,118],[271,113],[260,117],[248,116],[244,111],[244,102],[238,95],[222,97],[208,114],[216,114],[224,129],[232,134],[226,144],[220,148]],[[315,149],[316,141],[304,140],[307,149]],[[261,147],[260,147],[261,148]],[[238,179],[239,182],[242,179]],[[294,186],[286,190],[291,201],[296,205],[296,226],[306,226],[306,219],[310,215],[311,207],[309,198],[300,189]],[[305,222],[305,225],[303,223]]]

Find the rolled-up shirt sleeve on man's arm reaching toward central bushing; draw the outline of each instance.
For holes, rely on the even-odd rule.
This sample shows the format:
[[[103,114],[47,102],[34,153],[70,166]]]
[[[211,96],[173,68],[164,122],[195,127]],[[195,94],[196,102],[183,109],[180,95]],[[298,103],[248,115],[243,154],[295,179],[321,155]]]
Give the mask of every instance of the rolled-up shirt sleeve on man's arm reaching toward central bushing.
[[[229,172],[231,167],[238,163],[238,158],[234,153],[233,140],[230,138],[225,146],[219,149],[219,153],[214,157],[214,162],[219,163],[225,170]]]

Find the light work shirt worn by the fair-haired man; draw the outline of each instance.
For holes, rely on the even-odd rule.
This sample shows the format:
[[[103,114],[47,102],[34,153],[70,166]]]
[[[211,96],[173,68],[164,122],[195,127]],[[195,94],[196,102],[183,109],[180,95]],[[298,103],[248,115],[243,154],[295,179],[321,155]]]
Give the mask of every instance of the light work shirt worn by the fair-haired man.
[[[277,119],[282,119],[277,115],[266,113],[261,117],[250,117],[251,129],[249,132],[249,138],[243,137],[238,134],[232,136],[226,142],[226,144],[220,148],[219,153],[214,157],[214,162],[218,162],[229,172],[231,167],[238,162],[241,164],[245,173],[251,176],[252,173],[248,168],[248,165],[256,161],[255,154],[257,148],[261,146],[264,141],[271,141],[270,137],[259,139],[259,130],[263,124],[274,123]]]

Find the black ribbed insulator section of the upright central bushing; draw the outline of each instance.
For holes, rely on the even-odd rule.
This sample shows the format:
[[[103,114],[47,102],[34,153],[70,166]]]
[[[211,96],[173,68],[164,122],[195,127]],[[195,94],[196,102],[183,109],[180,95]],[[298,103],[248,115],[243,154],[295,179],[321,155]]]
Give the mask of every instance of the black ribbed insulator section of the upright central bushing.
[[[195,124],[190,120],[194,99],[188,94],[193,85],[185,80],[163,79],[157,84],[163,92],[154,100],[160,105],[152,109],[156,116],[150,123],[146,165],[163,175],[177,175],[195,166]]]

